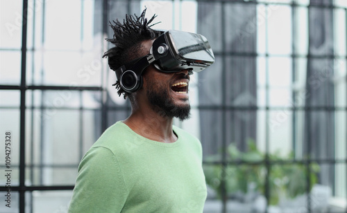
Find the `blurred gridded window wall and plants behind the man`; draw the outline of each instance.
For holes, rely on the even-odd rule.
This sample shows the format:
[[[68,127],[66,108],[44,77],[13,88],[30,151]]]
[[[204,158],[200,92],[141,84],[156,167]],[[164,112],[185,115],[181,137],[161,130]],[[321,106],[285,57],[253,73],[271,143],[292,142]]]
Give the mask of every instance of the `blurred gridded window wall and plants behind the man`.
[[[204,212],[347,212],[346,0],[0,0],[0,212],[67,212],[81,158],[130,114],[109,21],[145,7],[214,50],[175,120],[203,145]]]

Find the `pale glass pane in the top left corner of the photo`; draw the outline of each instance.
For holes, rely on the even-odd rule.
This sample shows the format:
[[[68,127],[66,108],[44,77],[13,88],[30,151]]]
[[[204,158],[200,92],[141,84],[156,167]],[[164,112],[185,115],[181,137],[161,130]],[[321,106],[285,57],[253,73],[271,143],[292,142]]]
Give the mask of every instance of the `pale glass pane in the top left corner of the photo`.
[[[22,10],[23,1],[0,1],[0,49],[21,48],[23,21]]]

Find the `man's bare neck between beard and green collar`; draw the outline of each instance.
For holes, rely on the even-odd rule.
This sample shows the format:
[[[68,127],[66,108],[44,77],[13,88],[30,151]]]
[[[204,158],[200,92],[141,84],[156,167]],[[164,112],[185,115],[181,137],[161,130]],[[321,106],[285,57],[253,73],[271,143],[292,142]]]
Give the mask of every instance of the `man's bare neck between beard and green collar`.
[[[172,130],[173,118],[160,114],[153,107],[133,108],[124,123],[140,136],[159,142],[175,142],[177,136]]]

